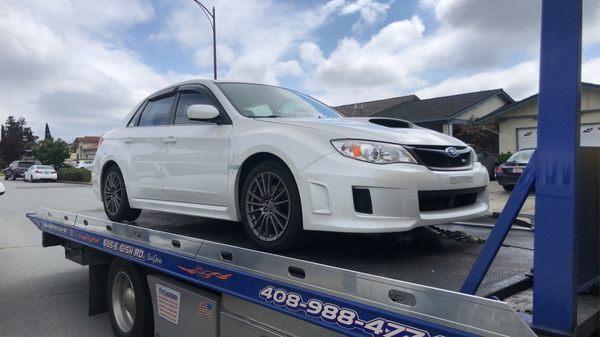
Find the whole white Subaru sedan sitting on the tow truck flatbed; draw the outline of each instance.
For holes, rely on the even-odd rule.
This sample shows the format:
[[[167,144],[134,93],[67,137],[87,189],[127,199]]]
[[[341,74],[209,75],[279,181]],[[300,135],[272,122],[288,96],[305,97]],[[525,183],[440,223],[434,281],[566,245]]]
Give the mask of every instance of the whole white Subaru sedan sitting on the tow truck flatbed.
[[[269,250],[305,231],[401,232],[489,214],[488,172],[458,139],[250,83],[150,95],[100,140],[92,182],[113,221],[142,209],[241,220]]]

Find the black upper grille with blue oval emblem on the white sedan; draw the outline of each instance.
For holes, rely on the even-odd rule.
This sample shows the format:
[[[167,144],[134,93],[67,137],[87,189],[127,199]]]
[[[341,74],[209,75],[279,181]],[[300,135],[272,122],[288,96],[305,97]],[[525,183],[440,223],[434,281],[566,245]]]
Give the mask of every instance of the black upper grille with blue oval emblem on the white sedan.
[[[455,148],[458,154],[450,156],[446,149]],[[466,146],[434,146],[434,145],[409,145],[406,146],[421,164],[432,170],[461,170],[471,168],[471,150]]]

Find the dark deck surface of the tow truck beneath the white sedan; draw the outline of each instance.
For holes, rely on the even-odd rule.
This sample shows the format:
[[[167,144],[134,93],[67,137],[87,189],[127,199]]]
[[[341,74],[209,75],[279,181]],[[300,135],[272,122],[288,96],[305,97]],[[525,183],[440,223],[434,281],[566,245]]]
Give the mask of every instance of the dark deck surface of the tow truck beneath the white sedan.
[[[106,219],[104,211],[83,210],[81,215]],[[488,219],[493,222],[494,219]],[[107,220],[108,221],[108,220]],[[240,223],[194,216],[144,211],[135,226],[256,249]],[[487,239],[490,228],[466,224],[439,226]],[[395,234],[312,233],[309,243],[282,256],[383,276],[430,287],[458,291],[482,244],[440,235],[428,227]],[[484,279],[479,295],[488,297],[513,277],[526,277],[533,266],[533,231],[511,230],[504,247]]]

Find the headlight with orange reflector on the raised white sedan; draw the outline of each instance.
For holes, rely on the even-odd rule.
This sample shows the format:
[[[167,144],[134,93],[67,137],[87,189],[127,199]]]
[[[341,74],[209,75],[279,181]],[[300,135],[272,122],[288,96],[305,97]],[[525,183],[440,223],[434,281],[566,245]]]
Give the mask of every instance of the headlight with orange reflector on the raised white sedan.
[[[374,164],[412,163],[417,161],[402,145],[358,139],[334,139],[333,147],[346,157]]]

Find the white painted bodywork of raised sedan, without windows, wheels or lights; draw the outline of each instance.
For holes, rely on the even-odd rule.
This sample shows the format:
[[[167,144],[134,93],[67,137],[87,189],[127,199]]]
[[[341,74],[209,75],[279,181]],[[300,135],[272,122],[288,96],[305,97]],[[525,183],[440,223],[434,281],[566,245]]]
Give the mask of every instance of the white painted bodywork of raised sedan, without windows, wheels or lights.
[[[119,127],[103,136],[92,168],[95,194],[101,199],[103,169],[115,162],[133,208],[239,221],[240,168],[252,155],[266,152],[280,158],[293,174],[305,230],[395,232],[490,214],[488,173],[476,158],[465,170],[436,171],[416,164],[362,162],[345,157],[331,144],[348,138],[467,147],[456,138],[412,124],[375,125],[370,118],[249,118],[236,110],[216,83],[195,80],[178,85],[208,88],[231,124],[127,127],[144,104],[139,103]],[[353,186],[370,189],[373,214],[355,211]],[[470,206],[419,210],[419,191],[467,188],[481,188]]]

